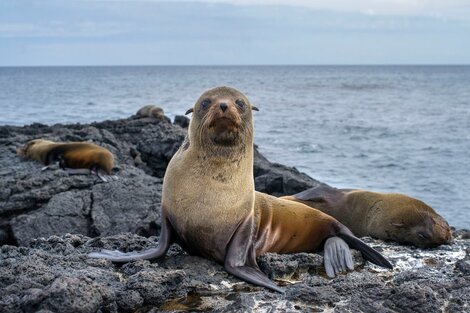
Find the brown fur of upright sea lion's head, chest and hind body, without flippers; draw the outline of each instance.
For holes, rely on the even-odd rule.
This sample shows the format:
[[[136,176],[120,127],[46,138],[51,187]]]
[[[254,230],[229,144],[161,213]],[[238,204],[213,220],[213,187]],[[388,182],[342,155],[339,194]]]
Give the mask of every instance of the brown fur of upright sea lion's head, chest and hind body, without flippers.
[[[237,227],[247,220],[257,256],[321,249],[339,225],[334,218],[303,204],[255,193],[252,114],[236,106],[240,97],[249,104],[238,91],[215,88],[196,102],[189,138],[165,174],[165,215],[194,253],[219,262],[224,261]],[[201,109],[204,99],[212,101],[209,109]],[[218,107],[221,102],[228,104],[226,113]]]

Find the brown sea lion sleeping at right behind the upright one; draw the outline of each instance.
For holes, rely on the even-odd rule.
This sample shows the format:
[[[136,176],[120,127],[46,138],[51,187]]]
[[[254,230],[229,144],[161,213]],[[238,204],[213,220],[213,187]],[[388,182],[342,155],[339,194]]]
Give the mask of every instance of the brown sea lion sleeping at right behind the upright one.
[[[452,238],[444,218],[426,203],[403,194],[324,185],[282,198],[333,216],[359,237],[371,236],[417,247],[436,247]]]

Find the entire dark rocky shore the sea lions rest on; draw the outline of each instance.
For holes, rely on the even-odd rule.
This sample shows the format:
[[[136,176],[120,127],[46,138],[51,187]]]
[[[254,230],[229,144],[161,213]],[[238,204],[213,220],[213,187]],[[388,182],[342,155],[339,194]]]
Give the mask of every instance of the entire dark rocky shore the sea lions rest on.
[[[0,127],[0,312],[468,312],[470,235],[421,250],[365,238],[391,260],[382,270],[355,254],[356,270],[328,279],[322,257],[259,259],[286,293],[243,283],[173,245],[157,261],[114,265],[87,259],[100,248],[155,246],[163,174],[187,127],[185,117],[131,117],[92,124]],[[116,157],[116,181],[69,176],[16,156],[35,138],[91,140]],[[320,182],[256,151],[255,185],[273,195]]]

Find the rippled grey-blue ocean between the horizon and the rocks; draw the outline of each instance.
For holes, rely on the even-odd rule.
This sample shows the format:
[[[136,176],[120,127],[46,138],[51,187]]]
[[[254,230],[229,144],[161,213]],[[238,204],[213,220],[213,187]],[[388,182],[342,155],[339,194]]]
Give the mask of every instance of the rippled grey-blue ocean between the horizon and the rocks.
[[[118,119],[146,104],[173,118],[219,85],[259,107],[269,160],[408,194],[470,228],[470,66],[0,67],[0,124]]]

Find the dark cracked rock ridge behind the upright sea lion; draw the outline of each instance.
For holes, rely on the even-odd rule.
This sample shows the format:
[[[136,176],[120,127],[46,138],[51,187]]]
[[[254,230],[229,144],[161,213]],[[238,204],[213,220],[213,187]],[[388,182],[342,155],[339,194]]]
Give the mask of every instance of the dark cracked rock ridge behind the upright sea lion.
[[[163,175],[185,134],[166,119],[136,117],[89,125],[0,127],[0,244],[26,245],[37,237],[65,233],[159,234]],[[115,156],[119,179],[102,183],[96,176],[69,176],[57,166],[41,172],[41,164],[16,155],[18,147],[35,138],[91,140],[104,146]],[[258,152],[254,173],[256,188],[274,195],[319,184]]]

